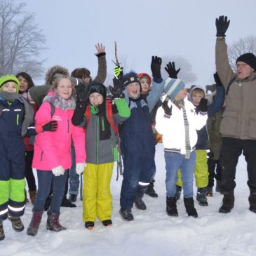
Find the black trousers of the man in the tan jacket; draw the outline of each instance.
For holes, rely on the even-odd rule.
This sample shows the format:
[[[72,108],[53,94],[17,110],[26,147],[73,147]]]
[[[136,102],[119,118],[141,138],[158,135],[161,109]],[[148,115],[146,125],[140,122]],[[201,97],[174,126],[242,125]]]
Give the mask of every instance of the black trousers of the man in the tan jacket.
[[[256,189],[256,140],[223,137],[220,151],[220,164],[222,167],[221,191],[231,191],[236,187],[236,165],[242,152],[247,162],[247,184],[250,189]]]

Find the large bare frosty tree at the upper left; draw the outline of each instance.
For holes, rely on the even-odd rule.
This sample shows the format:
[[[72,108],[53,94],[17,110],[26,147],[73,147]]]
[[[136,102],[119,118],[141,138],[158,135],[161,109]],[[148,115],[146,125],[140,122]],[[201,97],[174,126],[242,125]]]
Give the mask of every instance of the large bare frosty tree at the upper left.
[[[39,54],[46,37],[34,24],[34,14],[25,13],[25,6],[0,1],[0,75],[27,72],[36,79],[43,74],[44,60],[39,60]]]

